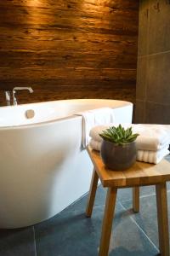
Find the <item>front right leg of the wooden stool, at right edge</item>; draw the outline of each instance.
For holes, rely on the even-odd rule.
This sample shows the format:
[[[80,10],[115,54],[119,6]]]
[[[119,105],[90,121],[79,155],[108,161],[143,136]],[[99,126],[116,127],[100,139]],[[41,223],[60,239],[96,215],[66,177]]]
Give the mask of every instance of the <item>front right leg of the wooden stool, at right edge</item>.
[[[156,184],[156,203],[160,253],[161,256],[169,256],[166,183]]]

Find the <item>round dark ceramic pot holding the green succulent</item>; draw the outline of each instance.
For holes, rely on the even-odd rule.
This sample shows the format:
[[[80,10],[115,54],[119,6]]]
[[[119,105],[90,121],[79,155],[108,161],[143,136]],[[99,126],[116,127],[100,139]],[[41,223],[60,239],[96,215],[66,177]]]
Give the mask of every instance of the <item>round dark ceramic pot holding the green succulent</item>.
[[[114,171],[122,171],[133,166],[136,161],[136,143],[117,145],[103,140],[101,144],[101,158],[105,166]]]

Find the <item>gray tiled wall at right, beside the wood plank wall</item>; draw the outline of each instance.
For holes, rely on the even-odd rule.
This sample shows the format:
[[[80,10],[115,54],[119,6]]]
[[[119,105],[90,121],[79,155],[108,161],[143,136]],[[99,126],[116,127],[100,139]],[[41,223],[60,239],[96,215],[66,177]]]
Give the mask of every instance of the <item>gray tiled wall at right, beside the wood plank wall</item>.
[[[137,123],[170,124],[170,1],[140,0]]]

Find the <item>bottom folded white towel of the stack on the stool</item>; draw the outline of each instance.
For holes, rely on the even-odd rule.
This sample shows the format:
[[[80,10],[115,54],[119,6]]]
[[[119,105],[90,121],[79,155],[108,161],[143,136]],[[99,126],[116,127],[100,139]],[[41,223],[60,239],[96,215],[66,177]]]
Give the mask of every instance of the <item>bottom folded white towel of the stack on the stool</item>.
[[[95,141],[94,139],[90,140],[91,148],[100,151],[101,142]],[[146,163],[158,164],[167,154],[169,154],[168,147],[161,148],[160,150],[137,150],[137,160],[143,161]]]

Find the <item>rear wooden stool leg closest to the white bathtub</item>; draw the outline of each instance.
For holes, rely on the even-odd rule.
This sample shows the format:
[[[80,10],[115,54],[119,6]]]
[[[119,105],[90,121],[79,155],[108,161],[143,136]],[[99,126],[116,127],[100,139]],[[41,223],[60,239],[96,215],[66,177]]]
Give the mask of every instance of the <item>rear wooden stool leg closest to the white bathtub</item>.
[[[98,180],[99,180],[98,174],[94,169],[91,184],[90,184],[89,195],[88,195],[88,205],[87,205],[87,208],[86,208],[86,216],[87,217],[91,217],[91,215],[92,215],[96,189],[97,189],[97,186],[98,186]]]

